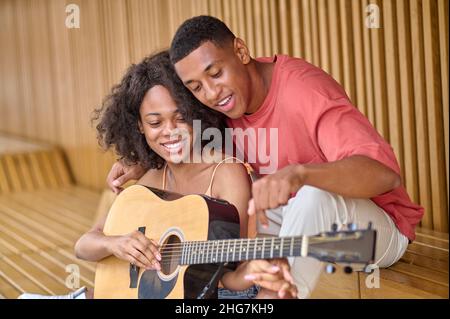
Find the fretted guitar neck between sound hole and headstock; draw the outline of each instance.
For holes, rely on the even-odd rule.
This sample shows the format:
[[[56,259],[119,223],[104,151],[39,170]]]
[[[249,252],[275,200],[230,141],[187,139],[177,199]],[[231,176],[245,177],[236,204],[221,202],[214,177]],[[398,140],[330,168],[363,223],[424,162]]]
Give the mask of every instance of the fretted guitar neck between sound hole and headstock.
[[[180,265],[307,256],[308,237],[263,237],[183,242]],[[170,251],[170,248],[168,248]]]

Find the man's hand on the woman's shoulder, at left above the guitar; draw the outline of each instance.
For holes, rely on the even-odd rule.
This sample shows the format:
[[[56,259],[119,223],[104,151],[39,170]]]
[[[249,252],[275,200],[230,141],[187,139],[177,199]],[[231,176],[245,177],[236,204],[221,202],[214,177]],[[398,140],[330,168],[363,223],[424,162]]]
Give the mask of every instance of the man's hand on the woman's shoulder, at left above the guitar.
[[[129,166],[120,160],[111,167],[108,177],[106,178],[106,183],[114,193],[119,194],[123,191],[123,188],[121,187],[123,184],[133,179],[139,179],[144,174],[145,169],[139,164]]]

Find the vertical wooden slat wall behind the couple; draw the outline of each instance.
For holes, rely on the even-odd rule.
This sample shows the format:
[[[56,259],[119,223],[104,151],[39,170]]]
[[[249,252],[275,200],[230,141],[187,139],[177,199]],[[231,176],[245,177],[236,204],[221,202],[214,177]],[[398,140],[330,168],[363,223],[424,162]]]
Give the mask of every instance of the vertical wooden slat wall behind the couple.
[[[67,29],[65,7],[80,8]],[[369,4],[380,28],[369,29]],[[186,18],[211,14],[254,56],[322,67],[391,143],[422,226],[448,232],[446,0],[49,0],[0,2],[0,131],[56,143],[76,181],[101,189],[114,156],[90,114],[130,62],[165,48]]]

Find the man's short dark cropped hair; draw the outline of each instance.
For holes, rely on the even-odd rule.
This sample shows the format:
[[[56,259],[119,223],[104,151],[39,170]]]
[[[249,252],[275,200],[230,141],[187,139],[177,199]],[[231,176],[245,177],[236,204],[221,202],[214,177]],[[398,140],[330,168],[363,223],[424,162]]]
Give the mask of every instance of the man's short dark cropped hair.
[[[221,20],[211,16],[197,16],[183,22],[170,45],[172,64],[188,56],[206,41],[225,47],[235,35]]]

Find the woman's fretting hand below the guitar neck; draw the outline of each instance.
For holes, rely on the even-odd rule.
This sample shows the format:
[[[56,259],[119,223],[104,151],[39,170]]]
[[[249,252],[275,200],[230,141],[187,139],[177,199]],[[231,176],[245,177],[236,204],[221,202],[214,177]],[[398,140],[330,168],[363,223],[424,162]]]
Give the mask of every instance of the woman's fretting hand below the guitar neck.
[[[269,290],[262,289],[261,295],[273,296],[276,292],[279,298],[296,298],[297,287],[289,270],[286,259],[252,260],[246,266],[244,278]]]

